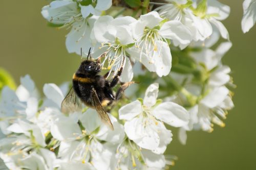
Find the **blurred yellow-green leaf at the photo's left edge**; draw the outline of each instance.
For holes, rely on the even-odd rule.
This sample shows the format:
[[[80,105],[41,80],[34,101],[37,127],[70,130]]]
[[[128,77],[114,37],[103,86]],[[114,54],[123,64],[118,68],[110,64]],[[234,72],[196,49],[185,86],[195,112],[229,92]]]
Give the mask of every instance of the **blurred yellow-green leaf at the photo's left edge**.
[[[4,68],[0,67],[0,91],[4,86],[8,86],[13,90],[16,89],[12,76]]]

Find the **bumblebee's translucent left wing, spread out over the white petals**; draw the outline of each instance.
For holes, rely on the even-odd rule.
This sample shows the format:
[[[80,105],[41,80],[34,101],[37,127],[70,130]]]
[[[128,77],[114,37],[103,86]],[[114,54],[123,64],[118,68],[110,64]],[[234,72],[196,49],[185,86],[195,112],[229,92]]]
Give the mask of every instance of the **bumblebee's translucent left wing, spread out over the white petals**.
[[[63,99],[61,103],[61,112],[62,113],[73,113],[76,111],[82,110],[82,102],[76,95],[74,87],[70,89],[66,97]]]

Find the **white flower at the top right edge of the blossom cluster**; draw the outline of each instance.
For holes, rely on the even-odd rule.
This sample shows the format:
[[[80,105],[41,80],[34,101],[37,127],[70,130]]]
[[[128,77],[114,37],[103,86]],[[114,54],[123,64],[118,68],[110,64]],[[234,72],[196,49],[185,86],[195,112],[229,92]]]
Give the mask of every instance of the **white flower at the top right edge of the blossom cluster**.
[[[204,41],[212,34],[212,25],[215,25],[225,39],[229,34],[219,20],[224,20],[230,13],[230,8],[216,0],[201,1],[198,8],[191,11],[191,1],[167,0],[170,4],[163,5],[156,10],[160,15],[170,20],[180,20],[192,32],[195,41]],[[194,2],[196,6],[196,3]]]

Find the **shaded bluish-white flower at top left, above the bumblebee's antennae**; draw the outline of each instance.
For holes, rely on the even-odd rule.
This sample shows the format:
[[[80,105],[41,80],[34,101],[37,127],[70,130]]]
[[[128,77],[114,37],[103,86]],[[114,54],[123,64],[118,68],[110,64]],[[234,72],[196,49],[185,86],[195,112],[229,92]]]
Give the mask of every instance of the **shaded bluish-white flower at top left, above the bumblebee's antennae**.
[[[86,8],[92,7],[92,5],[82,6],[83,2],[80,2],[79,6],[77,2],[70,0],[57,0],[51,2],[50,5],[42,8],[41,14],[49,22],[56,25],[56,27],[71,27],[70,33],[67,35],[66,46],[69,53],[80,54],[80,50],[88,52],[91,47],[90,34],[94,24],[96,16],[87,17],[90,13],[98,14],[101,5],[109,1],[98,1],[95,9],[86,10]],[[93,2],[95,4],[95,2]],[[81,11],[79,10],[81,8]],[[93,12],[94,11],[94,12]],[[88,15],[86,12],[89,12]],[[87,15],[87,16],[86,16]]]

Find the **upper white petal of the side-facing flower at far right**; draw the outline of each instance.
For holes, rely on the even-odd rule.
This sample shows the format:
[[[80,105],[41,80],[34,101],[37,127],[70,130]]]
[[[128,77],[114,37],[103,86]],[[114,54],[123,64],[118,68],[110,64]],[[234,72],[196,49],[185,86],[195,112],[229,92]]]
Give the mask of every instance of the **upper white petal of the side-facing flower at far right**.
[[[209,108],[214,108],[225,100],[228,93],[229,90],[225,86],[215,88],[201,100],[201,103]]]

